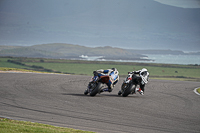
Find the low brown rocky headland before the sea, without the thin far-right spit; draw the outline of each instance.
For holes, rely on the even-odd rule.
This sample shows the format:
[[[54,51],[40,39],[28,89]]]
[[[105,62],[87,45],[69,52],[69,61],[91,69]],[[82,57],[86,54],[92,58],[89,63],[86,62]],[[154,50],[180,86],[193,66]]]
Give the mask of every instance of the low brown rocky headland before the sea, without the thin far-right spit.
[[[34,46],[0,46],[0,56],[82,59],[85,56],[100,56],[112,60],[142,60],[146,57],[121,48],[85,47],[53,43]]]

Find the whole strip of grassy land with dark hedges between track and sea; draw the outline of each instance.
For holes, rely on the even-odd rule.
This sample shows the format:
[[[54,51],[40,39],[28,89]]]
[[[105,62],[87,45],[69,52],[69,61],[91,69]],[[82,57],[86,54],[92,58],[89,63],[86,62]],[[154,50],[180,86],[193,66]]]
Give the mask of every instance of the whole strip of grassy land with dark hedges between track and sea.
[[[127,75],[128,71],[136,71],[145,67],[150,72],[150,78],[200,81],[199,65],[172,65],[39,58],[0,58],[0,67],[76,75],[92,75],[94,70],[115,67],[119,70],[119,74],[121,76]]]

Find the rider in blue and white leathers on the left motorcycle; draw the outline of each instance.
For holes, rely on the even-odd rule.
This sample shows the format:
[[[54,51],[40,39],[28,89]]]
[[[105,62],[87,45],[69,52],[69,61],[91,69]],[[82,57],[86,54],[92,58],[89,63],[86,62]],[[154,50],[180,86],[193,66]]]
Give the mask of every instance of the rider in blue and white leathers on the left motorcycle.
[[[100,69],[93,71],[93,74],[96,76],[109,76],[109,82],[107,83],[108,88],[104,89],[104,91],[111,92],[115,86],[115,84],[119,81],[119,72],[116,68],[111,69]]]

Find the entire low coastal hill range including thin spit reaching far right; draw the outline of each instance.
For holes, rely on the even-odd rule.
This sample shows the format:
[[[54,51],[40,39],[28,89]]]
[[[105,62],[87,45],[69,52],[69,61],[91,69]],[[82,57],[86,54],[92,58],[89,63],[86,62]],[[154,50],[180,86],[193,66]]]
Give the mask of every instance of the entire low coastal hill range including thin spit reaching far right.
[[[85,47],[66,43],[51,43],[33,46],[0,45],[0,56],[54,58],[54,59],[106,59],[106,60],[150,60],[149,54],[200,55],[200,52],[184,53],[178,50],[136,50],[117,47]]]

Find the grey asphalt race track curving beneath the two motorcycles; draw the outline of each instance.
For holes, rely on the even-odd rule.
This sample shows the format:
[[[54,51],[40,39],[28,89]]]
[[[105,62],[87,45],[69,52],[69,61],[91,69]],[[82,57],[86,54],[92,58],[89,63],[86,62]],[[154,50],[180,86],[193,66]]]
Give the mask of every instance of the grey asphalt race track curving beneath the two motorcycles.
[[[199,133],[199,82],[150,79],[145,95],[83,94],[91,77],[0,73],[0,117],[100,133]]]

